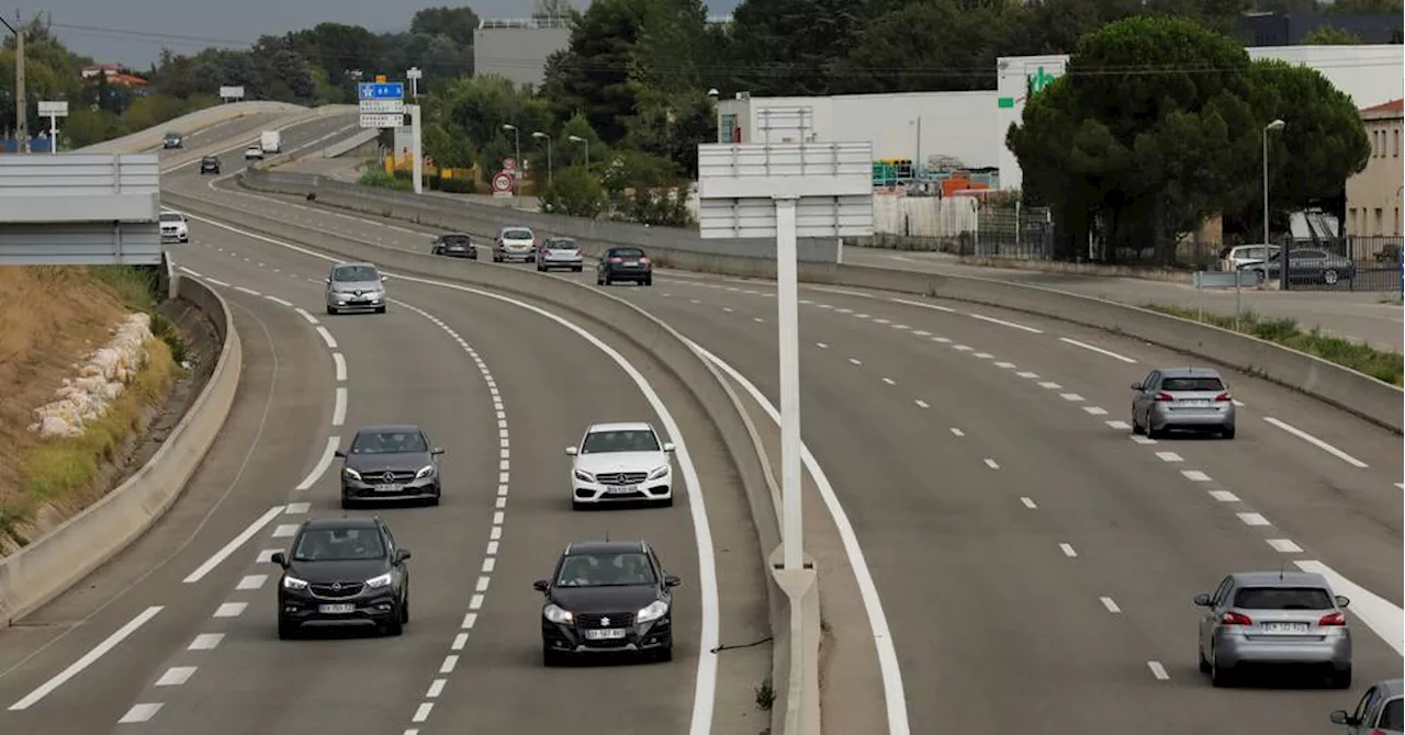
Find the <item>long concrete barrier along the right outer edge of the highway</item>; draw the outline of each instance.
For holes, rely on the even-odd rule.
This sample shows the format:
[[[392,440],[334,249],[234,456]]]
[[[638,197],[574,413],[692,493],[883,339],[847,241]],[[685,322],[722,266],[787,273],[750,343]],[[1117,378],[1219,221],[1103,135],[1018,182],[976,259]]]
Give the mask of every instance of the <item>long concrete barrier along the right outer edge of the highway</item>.
[[[239,183],[257,191],[315,194],[319,204],[329,207],[447,229],[466,229],[473,235],[496,233],[497,228],[509,223],[525,223],[510,221],[517,218],[517,212],[503,212],[493,207],[374,190],[308,174],[256,171],[240,177]],[[587,254],[597,256],[604,247],[621,245],[607,239],[606,230],[596,232],[590,222],[538,216],[547,218],[541,232],[576,236]],[[562,226],[555,226],[556,223]],[[579,232],[592,235],[580,236]],[[665,228],[635,225],[629,242],[648,242],[651,256],[666,267],[753,278],[776,277],[774,259],[690,250],[690,240],[673,239],[672,232]],[[1298,350],[1189,319],[1055,288],[968,275],[801,263],[799,278],[806,282],[984,304],[1128,334],[1259,375],[1405,434],[1405,391],[1401,388]]]

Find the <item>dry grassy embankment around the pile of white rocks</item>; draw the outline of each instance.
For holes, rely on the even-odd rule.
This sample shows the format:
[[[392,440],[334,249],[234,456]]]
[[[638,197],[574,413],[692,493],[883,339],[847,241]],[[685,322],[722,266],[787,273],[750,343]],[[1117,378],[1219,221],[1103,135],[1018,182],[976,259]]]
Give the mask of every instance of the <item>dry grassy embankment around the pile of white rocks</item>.
[[[52,506],[70,516],[105,495],[103,471],[122,461],[128,440],[145,429],[181,377],[185,344],[155,313],[155,277],[129,267],[0,267],[0,554],[24,544],[35,514]],[[111,339],[128,313],[152,315],[148,358],[107,413],[81,436],[39,438],[34,410],[55,401],[76,364]]]

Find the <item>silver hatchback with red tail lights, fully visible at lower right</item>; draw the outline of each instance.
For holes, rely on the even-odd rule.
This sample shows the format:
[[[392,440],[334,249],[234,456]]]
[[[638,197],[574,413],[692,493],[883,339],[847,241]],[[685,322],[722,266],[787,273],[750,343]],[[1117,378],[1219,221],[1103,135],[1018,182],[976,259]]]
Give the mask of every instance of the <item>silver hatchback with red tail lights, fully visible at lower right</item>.
[[[1196,594],[1200,670],[1229,686],[1249,666],[1324,670],[1336,689],[1352,687],[1352,631],[1326,578],[1311,572],[1239,572],[1214,594]]]

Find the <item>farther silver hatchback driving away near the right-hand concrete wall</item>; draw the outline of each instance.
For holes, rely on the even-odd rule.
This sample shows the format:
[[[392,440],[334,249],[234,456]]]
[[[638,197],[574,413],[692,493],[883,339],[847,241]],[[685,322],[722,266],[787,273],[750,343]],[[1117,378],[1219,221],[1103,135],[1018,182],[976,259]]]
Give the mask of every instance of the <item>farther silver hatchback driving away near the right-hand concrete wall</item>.
[[[1162,368],[1132,384],[1132,433],[1156,438],[1176,429],[1234,438],[1234,396],[1218,372]]]

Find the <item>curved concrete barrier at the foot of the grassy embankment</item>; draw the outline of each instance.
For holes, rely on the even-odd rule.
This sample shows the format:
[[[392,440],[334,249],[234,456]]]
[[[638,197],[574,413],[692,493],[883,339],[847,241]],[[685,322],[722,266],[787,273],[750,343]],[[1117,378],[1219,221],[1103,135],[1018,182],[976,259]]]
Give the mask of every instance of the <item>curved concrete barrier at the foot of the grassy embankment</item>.
[[[0,621],[10,625],[80,582],[145,533],[176,502],[225,426],[243,353],[225,301],[191,278],[177,290],[215,325],[222,350],[185,416],[131,478],[20,551],[0,558]]]

